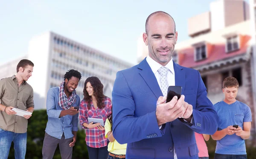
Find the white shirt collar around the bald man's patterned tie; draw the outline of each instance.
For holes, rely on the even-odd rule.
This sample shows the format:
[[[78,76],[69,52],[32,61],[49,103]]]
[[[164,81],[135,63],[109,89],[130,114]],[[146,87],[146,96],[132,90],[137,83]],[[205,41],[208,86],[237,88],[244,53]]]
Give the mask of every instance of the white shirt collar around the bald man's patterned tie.
[[[157,61],[154,61],[149,55],[147,56],[146,61],[148,62],[148,65],[150,66],[154,74],[156,74],[157,70],[162,67],[161,64],[157,63]],[[168,62],[168,64],[166,64],[165,67],[167,67],[172,72],[172,74],[174,74],[172,59]]]

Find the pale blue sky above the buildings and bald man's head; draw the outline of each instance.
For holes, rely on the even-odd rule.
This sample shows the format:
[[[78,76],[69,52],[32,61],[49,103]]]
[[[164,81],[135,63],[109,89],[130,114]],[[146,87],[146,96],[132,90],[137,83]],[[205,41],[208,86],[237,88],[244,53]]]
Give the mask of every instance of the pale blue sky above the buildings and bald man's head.
[[[0,64],[26,55],[32,36],[47,31],[136,64],[137,38],[149,14],[171,14],[179,42],[189,38],[188,18],[209,11],[212,1],[1,0]]]

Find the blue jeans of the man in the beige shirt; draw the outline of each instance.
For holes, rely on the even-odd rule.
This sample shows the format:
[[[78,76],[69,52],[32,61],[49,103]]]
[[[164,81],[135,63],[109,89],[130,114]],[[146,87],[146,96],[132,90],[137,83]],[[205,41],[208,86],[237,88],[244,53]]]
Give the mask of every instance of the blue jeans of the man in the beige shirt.
[[[7,159],[12,142],[14,143],[15,159],[25,159],[27,133],[14,133],[0,128],[0,156]]]

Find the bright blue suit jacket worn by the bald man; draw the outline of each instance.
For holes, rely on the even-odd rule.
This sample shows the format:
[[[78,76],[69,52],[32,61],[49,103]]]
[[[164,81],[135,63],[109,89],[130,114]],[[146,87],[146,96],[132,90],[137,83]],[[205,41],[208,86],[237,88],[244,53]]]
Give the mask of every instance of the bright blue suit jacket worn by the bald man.
[[[198,159],[195,132],[213,134],[218,115],[207,98],[200,73],[174,63],[175,85],[182,87],[185,101],[193,106],[193,124],[182,119],[159,129],[156,103],[163,96],[147,61],[117,72],[112,91],[113,136],[128,143],[126,159]]]

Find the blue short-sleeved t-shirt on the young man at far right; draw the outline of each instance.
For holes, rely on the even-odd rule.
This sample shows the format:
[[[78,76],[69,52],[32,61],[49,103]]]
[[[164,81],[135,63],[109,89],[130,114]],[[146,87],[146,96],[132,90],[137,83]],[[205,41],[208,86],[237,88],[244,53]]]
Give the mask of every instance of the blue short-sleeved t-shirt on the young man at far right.
[[[219,117],[218,130],[223,130],[230,125],[239,125],[243,129],[244,122],[252,121],[250,107],[241,101],[233,104],[220,101],[214,104],[214,107]],[[226,135],[221,140],[217,140],[215,153],[244,155],[246,154],[245,141],[236,134]]]

